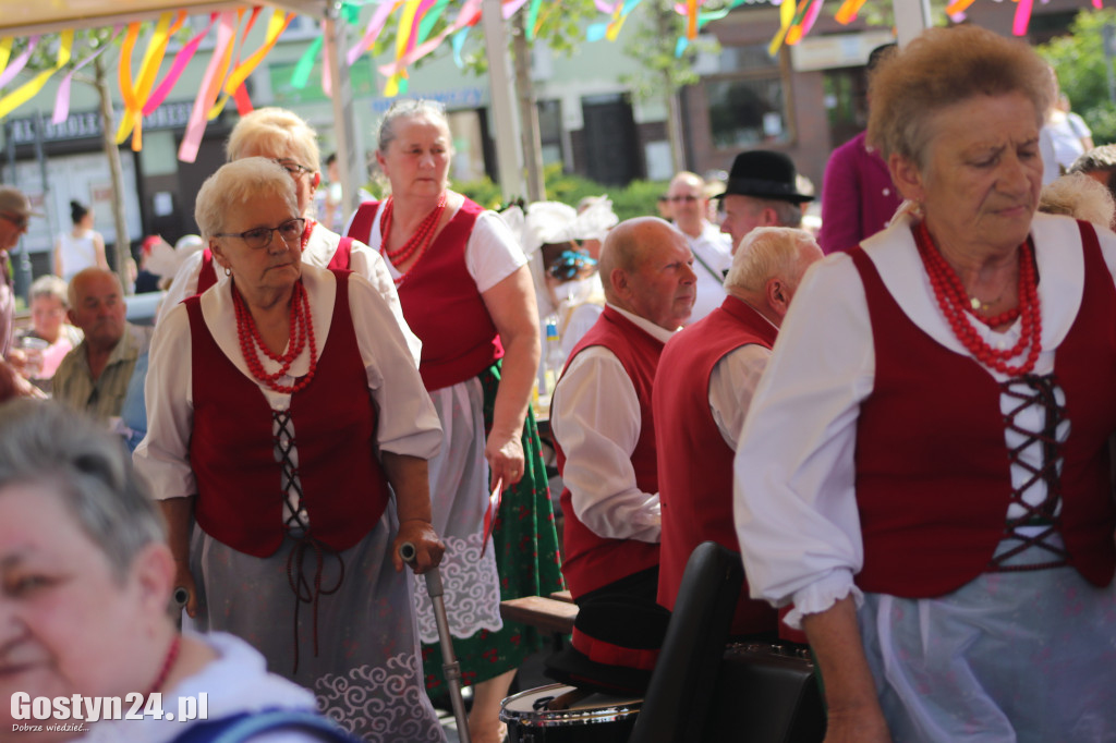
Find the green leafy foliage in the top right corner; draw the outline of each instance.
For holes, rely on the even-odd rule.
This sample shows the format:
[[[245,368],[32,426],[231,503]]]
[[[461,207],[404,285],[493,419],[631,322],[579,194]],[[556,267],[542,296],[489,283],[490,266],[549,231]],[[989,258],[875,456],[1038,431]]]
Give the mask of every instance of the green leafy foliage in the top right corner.
[[[1093,129],[1095,144],[1116,142],[1116,100],[1109,95],[1113,59],[1105,56],[1104,28],[1116,30],[1116,10],[1083,11],[1069,27],[1070,35],[1037,47],[1058,74],[1061,90],[1074,110]]]

